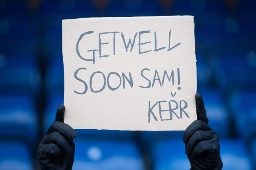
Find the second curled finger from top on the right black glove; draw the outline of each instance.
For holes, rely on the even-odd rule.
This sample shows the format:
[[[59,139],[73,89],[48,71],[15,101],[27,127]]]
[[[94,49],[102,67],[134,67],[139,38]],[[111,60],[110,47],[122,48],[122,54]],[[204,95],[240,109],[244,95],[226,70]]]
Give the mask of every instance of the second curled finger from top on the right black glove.
[[[204,131],[204,130],[197,130],[190,140],[187,142],[186,146],[186,154],[191,155],[194,147],[197,146],[199,142],[211,140],[215,135],[213,130],[211,131]]]

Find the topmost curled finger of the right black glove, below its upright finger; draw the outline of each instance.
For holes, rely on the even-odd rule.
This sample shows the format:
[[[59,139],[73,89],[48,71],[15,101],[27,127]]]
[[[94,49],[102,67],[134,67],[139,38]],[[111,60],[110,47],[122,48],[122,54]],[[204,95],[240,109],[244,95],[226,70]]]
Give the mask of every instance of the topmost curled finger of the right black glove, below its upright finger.
[[[185,143],[185,146],[187,145],[187,142],[190,140],[190,137],[197,130],[209,131],[211,130],[211,128],[209,125],[207,125],[203,121],[200,121],[200,120],[193,121],[193,123],[191,123],[190,126],[187,127],[183,135],[183,142]]]

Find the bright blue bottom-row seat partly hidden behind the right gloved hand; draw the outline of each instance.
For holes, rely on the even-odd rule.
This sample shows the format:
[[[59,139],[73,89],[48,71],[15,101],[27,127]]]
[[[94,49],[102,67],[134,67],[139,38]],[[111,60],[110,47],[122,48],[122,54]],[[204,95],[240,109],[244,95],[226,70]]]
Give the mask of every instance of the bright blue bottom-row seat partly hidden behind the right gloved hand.
[[[154,160],[154,170],[190,169],[182,138],[156,142],[151,154]],[[220,139],[220,156],[223,170],[253,169],[251,158],[242,140]]]

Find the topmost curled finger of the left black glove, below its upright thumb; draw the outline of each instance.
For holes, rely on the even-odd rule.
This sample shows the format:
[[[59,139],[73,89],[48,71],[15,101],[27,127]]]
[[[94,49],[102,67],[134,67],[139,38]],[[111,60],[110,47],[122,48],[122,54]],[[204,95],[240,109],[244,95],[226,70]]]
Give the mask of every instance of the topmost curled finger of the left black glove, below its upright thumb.
[[[76,137],[76,131],[73,130],[73,128],[71,128],[71,126],[69,126],[66,123],[55,121],[54,123],[52,123],[50,128],[47,130],[46,135],[49,135],[50,133],[55,132],[55,131],[59,132],[66,138],[73,139]]]

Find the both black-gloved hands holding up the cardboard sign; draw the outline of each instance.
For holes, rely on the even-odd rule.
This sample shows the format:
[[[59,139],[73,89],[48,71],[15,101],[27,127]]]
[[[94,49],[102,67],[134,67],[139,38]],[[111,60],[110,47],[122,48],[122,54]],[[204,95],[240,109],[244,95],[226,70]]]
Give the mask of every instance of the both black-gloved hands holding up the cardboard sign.
[[[183,135],[190,170],[221,170],[218,136],[210,128],[204,101],[196,94],[197,120],[190,124]],[[64,105],[57,109],[55,122],[38,145],[38,159],[42,170],[71,170],[74,162],[76,131],[63,123]]]

